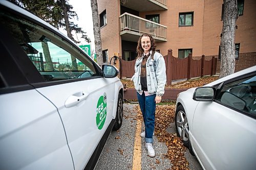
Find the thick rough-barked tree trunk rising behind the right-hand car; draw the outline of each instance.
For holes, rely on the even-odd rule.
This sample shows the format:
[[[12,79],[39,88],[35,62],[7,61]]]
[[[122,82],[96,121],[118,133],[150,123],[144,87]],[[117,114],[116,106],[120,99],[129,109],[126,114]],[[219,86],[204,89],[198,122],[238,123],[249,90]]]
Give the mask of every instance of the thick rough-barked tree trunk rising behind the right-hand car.
[[[234,31],[238,18],[237,0],[224,0],[224,18],[221,37],[221,74],[220,78],[234,72],[235,44]]]

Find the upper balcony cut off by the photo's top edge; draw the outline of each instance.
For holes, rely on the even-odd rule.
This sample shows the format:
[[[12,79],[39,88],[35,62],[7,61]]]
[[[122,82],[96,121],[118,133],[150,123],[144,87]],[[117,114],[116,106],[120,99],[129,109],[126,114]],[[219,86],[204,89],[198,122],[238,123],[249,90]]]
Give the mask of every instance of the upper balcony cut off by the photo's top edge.
[[[129,0],[121,5],[139,12],[161,11],[167,10],[166,1],[167,0]]]

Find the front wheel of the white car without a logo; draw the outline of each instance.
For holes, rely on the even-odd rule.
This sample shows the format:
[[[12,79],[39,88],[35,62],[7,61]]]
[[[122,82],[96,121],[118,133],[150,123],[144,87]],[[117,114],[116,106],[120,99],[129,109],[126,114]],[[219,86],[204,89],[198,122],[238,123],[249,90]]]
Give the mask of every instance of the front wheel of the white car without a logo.
[[[179,105],[175,112],[175,127],[178,137],[181,137],[184,146],[188,148],[191,155],[195,155],[189,139],[189,126],[187,115],[182,105]]]

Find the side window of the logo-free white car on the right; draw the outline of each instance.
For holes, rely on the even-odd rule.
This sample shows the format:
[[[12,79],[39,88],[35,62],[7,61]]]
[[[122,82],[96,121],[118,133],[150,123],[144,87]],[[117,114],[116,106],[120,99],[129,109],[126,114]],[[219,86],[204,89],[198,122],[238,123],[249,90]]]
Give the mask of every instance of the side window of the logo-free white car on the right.
[[[256,76],[223,85],[216,100],[256,117]]]

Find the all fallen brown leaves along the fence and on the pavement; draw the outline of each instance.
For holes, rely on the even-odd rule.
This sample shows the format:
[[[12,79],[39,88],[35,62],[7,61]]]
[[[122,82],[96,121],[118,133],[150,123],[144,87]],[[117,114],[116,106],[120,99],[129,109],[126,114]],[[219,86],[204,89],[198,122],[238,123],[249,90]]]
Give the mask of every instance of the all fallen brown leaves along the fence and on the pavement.
[[[199,87],[210,82],[217,80],[219,77],[209,76],[193,80],[180,81],[176,84],[165,86],[165,88],[192,88]],[[121,80],[127,88],[134,88],[133,81],[130,80]],[[136,100],[134,100],[136,101]],[[136,107],[137,119],[142,118],[139,106]],[[177,137],[177,134],[170,134],[166,132],[166,128],[170,123],[174,122],[175,119],[175,102],[163,102],[156,106],[156,124],[155,124],[155,134],[157,139],[160,142],[165,142],[168,151],[164,155],[170,159],[170,162],[173,164],[172,169],[189,169],[188,161],[184,156],[186,148],[183,146],[181,138]],[[168,170],[168,169],[166,169]]]

